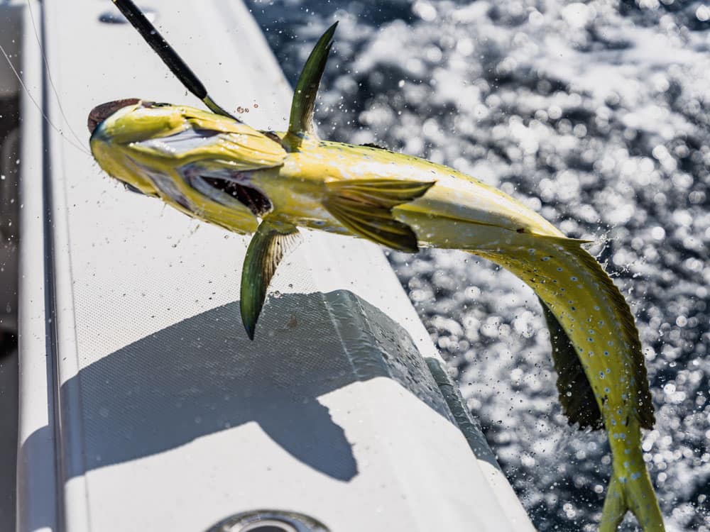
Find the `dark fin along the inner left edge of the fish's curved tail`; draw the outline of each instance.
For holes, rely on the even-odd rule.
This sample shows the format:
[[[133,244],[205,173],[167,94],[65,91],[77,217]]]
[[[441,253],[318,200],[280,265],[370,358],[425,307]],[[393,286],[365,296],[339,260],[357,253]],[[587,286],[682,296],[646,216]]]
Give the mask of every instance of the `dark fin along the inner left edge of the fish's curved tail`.
[[[557,372],[557,392],[564,415],[570,425],[579,423],[579,428],[603,428],[599,405],[596,404],[594,390],[591,389],[589,379],[581,366],[577,350],[555,318],[555,314],[552,314],[542,299],[540,304],[542,313],[545,314],[547,329],[550,331],[552,363]]]

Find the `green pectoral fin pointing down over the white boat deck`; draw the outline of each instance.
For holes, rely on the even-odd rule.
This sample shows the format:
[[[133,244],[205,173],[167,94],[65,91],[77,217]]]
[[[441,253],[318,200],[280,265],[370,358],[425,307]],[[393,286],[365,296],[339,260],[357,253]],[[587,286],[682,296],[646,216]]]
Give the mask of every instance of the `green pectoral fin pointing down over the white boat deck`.
[[[300,242],[300,235],[290,223],[263,221],[249,243],[241,272],[241,321],[246,334],[254,339],[256,321],[261,313],[266,289],[286,253]]]

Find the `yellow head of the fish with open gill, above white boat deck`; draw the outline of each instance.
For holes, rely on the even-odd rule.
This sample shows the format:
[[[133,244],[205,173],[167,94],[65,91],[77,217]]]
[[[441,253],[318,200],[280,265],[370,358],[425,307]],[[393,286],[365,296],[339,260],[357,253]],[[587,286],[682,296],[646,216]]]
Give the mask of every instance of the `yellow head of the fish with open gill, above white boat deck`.
[[[253,232],[257,217],[271,210],[252,177],[283,164],[275,135],[208,111],[138,99],[95,107],[88,126],[99,166],[133,192],[238,233]]]

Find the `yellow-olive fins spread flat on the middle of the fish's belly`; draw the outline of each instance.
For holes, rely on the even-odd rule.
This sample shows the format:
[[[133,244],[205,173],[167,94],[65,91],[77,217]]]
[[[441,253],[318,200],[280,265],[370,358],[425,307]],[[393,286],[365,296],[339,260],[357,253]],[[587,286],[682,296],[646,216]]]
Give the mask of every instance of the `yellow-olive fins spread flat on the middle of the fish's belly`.
[[[392,208],[419,198],[434,183],[402,179],[329,182],[323,206],[350,231],[388,248],[417,253],[417,235],[393,218]]]

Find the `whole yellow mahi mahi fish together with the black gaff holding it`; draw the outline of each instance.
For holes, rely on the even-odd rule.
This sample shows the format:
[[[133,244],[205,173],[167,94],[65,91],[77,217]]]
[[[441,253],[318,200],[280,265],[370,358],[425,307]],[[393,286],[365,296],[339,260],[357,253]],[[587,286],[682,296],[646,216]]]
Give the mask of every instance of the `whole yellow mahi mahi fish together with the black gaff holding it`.
[[[449,167],[319,138],[315,96],[337,23],[302,70],[288,131],[257,131],[214,103],[131,2],[114,1],[211,111],[111,101],[89,114],[92,153],[136,192],[234,233],[254,233],[241,281],[249,338],[299,227],[409,253],[449,248],[485,257],[540,299],[569,423],[606,429],[613,473],[600,530],[616,530],[626,511],[644,531],[664,529],[641,450],[641,428],[652,428],[654,415],[638,331],[585,241],[567,238],[507,194]]]

